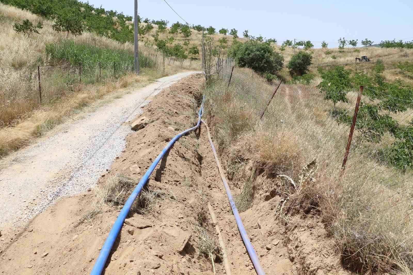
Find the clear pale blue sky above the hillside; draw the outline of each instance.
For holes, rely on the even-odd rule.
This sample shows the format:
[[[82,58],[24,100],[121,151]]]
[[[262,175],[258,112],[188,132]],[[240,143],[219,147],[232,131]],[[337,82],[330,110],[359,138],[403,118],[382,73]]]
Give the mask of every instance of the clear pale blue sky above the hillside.
[[[238,35],[337,42],[338,38],[368,38],[375,42],[393,38],[413,40],[413,0],[166,0],[189,24],[236,28]],[[133,0],[89,0],[91,5],[133,15]],[[138,13],[183,22],[163,0],[138,0]],[[405,40],[406,41],[406,40]],[[313,42],[316,47],[320,43]],[[329,43],[329,47],[337,44]]]

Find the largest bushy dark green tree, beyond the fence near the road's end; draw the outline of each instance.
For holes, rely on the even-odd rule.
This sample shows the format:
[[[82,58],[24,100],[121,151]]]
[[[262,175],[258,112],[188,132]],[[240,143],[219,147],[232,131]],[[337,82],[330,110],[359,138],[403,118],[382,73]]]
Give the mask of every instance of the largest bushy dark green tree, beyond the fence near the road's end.
[[[229,55],[235,57],[240,67],[252,68],[258,73],[276,73],[283,66],[284,56],[275,52],[268,43],[251,40],[231,46]]]

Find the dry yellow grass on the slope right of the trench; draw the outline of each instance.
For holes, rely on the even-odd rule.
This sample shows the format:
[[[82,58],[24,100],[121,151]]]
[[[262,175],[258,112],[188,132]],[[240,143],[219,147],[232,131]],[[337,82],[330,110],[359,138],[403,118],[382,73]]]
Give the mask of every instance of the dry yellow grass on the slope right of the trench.
[[[356,132],[341,176],[349,127],[337,125],[328,115],[331,106],[316,89],[282,85],[260,121],[259,113],[274,87],[256,75],[253,78],[249,69],[234,72],[230,89],[225,81],[206,90],[206,116],[209,112],[223,155],[229,155],[228,173],[242,174],[238,169],[252,163],[251,173],[258,171],[271,183],[277,174],[299,183],[302,168],[315,160],[318,169],[311,181],[297,190],[280,190],[289,197],[284,207],[287,223],[288,214],[313,209],[311,215],[319,213],[335,240],[344,267],[359,273],[411,272],[407,270],[413,269],[412,172],[381,162]],[[225,108],[231,104],[227,99],[235,102],[232,109]],[[226,119],[228,112],[233,113],[231,120]],[[244,121],[243,116],[237,118],[242,112],[252,113],[247,122],[252,127],[231,126]],[[387,141],[382,142],[380,146],[385,146]],[[261,187],[242,180],[244,189]]]

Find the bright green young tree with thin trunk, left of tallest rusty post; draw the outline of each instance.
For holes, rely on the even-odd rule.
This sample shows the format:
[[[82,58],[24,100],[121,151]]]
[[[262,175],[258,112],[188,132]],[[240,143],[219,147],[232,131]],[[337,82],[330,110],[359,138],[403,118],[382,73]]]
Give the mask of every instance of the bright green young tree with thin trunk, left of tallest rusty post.
[[[343,66],[335,66],[335,68],[321,72],[323,79],[317,88],[320,93],[324,93],[325,100],[331,100],[335,105],[337,102],[349,102],[346,97],[347,92],[353,87],[350,80],[350,71],[344,69]]]

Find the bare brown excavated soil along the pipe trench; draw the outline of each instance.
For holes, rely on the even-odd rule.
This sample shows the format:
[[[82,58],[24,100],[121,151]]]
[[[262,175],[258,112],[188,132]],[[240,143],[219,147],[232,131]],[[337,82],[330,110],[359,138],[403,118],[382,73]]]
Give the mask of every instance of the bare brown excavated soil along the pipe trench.
[[[141,115],[149,125],[127,137],[125,150],[97,185],[119,174],[138,182],[171,137],[196,121],[203,83],[202,74],[192,75],[155,96]],[[229,183],[234,195],[241,192],[238,184]],[[280,200],[276,186],[263,186],[241,218],[266,274],[349,274],[317,217],[297,216],[293,226],[283,226],[274,215]],[[255,274],[203,125],[174,144],[144,192],[156,194],[153,203],[138,199],[104,274],[214,274],[210,259],[199,253],[198,226],[216,240],[207,204],[221,227],[232,273]],[[104,206],[88,218],[94,200],[94,190],[61,199],[25,230],[3,235],[7,245],[0,247],[1,274],[90,273],[120,209]],[[225,274],[219,253],[214,261],[216,274]]]

